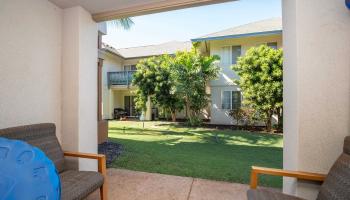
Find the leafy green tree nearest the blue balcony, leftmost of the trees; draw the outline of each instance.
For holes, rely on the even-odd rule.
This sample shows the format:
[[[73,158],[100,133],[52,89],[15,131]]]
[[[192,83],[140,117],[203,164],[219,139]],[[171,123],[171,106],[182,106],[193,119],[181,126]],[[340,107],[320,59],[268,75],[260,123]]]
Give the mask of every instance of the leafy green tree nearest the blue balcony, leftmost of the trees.
[[[168,55],[143,59],[137,64],[133,84],[137,86],[136,107],[146,109],[146,102],[151,96],[153,103],[168,110],[172,121],[176,121],[176,112],[183,109],[183,101],[175,93],[171,79],[173,58]]]

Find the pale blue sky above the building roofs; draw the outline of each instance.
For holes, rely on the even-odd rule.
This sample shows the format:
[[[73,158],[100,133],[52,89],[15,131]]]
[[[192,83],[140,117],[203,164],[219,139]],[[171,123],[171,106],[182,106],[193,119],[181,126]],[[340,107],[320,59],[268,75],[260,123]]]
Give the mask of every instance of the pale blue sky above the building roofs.
[[[281,17],[281,0],[240,0],[133,17],[130,30],[109,28],[103,41],[127,48],[190,39],[234,26]]]

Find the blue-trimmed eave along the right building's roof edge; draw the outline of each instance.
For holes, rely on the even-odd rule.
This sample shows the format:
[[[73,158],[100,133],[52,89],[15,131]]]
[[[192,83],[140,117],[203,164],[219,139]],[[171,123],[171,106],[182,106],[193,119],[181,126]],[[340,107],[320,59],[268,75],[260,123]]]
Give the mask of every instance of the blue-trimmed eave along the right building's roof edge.
[[[212,41],[212,40],[236,39],[236,38],[244,38],[244,37],[268,36],[268,35],[279,35],[279,34],[282,34],[282,30],[245,33],[245,34],[236,34],[236,35],[224,35],[224,36],[207,37],[207,38],[195,38],[195,39],[191,39],[191,41],[204,42],[204,41]]]

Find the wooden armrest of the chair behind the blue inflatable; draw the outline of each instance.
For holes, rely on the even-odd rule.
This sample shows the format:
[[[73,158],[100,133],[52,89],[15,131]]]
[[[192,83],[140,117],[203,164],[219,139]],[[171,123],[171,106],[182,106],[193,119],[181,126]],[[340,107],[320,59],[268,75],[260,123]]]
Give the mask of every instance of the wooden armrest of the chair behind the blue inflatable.
[[[98,161],[98,172],[100,172],[106,178],[106,156],[103,154],[92,154],[92,153],[80,153],[72,151],[64,151],[64,156],[76,157],[76,158],[88,158],[95,159]]]

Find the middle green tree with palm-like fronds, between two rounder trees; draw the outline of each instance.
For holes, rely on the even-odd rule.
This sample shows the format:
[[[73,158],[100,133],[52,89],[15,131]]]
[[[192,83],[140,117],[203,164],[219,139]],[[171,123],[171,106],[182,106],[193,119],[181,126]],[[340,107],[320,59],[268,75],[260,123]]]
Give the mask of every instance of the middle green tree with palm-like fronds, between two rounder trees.
[[[203,56],[196,48],[176,53],[171,70],[172,79],[175,93],[183,98],[186,112],[189,111],[191,125],[201,123],[199,116],[209,103],[207,84],[218,77],[219,59],[218,56]]]

